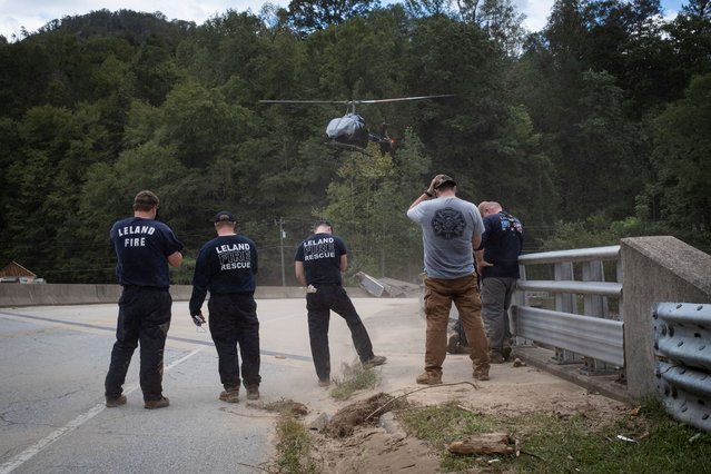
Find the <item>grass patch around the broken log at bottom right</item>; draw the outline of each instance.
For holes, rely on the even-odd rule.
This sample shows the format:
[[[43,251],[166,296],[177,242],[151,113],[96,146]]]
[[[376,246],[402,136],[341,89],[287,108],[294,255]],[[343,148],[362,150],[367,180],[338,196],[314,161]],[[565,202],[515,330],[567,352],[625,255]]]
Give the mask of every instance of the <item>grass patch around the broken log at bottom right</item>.
[[[486,467],[506,473],[711,473],[711,434],[672,419],[659,402],[605,421],[582,414],[477,414],[455,403],[409,408],[397,416],[409,433],[440,453],[441,466],[448,472]],[[519,440],[521,456],[464,456],[446,450],[467,435],[491,432]]]

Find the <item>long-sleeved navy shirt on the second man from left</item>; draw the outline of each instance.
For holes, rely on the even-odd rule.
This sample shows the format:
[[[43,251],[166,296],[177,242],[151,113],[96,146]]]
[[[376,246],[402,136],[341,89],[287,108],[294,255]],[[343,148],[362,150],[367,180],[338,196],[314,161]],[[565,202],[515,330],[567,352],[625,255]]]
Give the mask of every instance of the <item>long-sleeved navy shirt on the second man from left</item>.
[[[192,276],[190,314],[199,312],[207,292],[210,295],[255,290],[257,246],[240,235],[218,236],[200,248]]]

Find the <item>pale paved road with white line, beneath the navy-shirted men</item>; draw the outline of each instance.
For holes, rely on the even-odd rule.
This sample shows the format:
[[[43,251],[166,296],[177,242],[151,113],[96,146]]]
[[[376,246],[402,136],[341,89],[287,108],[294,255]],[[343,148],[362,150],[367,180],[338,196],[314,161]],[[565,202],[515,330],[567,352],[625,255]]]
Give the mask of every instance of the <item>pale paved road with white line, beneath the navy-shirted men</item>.
[[[415,299],[354,303],[366,326],[394,307],[422,324]],[[305,300],[257,304],[259,402],[328,405],[310,358]],[[0,308],[0,474],[255,473],[266,467],[274,454],[276,415],[247,403],[244,394],[239,404],[220,402],[209,333],[196,332],[186,302],[174,303],[172,313],[164,375],[170,406],[147,411],[138,388],[138,350],[125,386],[128,404],[103,406],[116,305]],[[337,367],[356,356],[337,316],[332,318],[330,346],[337,376]]]

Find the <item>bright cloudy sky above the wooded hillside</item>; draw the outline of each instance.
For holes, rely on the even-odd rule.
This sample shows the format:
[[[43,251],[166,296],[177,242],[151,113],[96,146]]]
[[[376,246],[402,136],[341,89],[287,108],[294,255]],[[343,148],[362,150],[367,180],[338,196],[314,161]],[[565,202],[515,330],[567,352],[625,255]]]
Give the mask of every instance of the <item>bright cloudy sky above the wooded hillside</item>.
[[[385,3],[387,0],[384,0]],[[536,31],[546,22],[554,0],[513,0],[521,12],[525,13],[526,27]],[[675,17],[684,0],[662,0],[666,17]],[[0,0],[0,34],[12,40],[12,34],[20,34],[21,28],[36,31],[47,22],[67,16],[86,14],[95,10],[108,9],[160,11],[168,19],[195,21],[200,24],[205,20],[221,14],[228,9],[258,13],[264,0]],[[271,3],[286,7],[288,0],[271,0]]]

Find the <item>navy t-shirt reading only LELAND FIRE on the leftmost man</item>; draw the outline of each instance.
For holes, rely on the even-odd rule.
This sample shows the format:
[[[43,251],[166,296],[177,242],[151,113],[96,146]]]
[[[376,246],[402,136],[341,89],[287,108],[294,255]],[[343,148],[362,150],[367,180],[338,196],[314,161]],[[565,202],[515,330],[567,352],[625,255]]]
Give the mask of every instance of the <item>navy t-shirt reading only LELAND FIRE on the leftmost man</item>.
[[[122,286],[167,288],[170,285],[169,255],[182,244],[161,221],[127,217],[111,227],[109,238],[116,249],[116,277]]]

